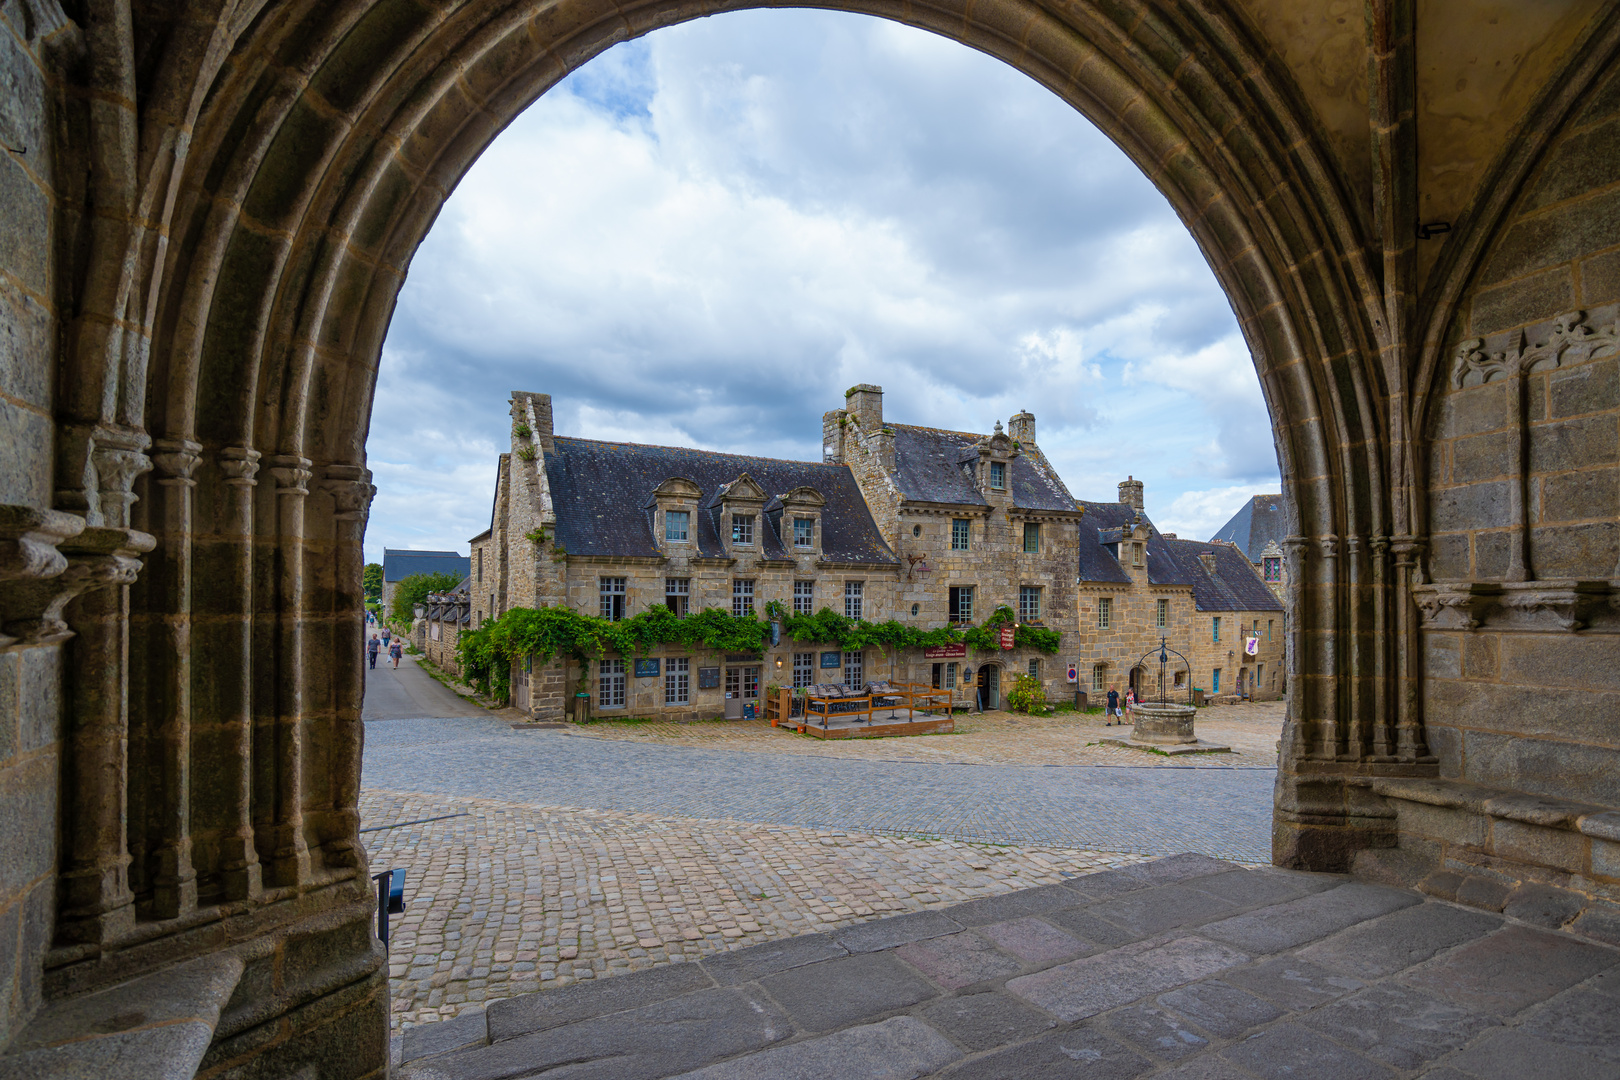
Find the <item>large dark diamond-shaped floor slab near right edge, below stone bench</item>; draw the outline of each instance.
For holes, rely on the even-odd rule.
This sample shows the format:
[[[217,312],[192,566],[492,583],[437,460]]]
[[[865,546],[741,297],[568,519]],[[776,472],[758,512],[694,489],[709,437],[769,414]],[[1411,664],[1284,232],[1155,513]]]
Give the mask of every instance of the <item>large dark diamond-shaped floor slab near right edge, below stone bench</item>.
[[[1511,1015],[1620,963],[1620,950],[1570,934],[1508,926],[1414,968],[1401,981],[1437,997]]]

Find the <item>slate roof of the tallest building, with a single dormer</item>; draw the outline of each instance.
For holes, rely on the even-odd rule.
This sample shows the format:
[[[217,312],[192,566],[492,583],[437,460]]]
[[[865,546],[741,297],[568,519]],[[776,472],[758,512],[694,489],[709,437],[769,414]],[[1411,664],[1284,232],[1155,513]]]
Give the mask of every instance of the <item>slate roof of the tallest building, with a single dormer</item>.
[[[977,461],[983,436],[940,427],[886,424],[894,431],[894,470],[901,495],[914,502],[990,505],[974,486],[964,463]],[[1024,510],[1074,510],[1074,497],[1038,453],[1019,453],[1008,461],[1013,505]]]

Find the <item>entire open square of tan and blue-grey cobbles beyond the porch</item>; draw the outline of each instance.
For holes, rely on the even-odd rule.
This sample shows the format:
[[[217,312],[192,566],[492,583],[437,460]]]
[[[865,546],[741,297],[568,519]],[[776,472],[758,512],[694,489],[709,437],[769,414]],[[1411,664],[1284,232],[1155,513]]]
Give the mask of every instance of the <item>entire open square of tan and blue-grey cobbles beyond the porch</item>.
[[[1207,737],[1244,753],[1187,763],[1087,745],[1100,717],[847,743],[760,724],[514,730],[410,659],[368,677],[366,847],[408,871],[395,1027],[1152,855],[1267,858],[1278,706],[1210,711],[1225,722]]]

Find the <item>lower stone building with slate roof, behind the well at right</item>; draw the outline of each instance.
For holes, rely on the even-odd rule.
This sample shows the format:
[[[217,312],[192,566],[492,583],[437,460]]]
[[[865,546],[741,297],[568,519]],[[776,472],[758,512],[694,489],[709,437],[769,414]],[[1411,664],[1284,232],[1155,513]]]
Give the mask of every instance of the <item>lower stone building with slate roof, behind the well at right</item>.
[[[1160,640],[1186,657],[1166,690],[1210,699],[1272,699],[1285,690],[1283,606],[1231,544],[1166,536],[1144,513],[1144,484],[1118,502],[1082,502],[1079,559],[1081,683],[1092,703],[1108,690],[1157,695]],[[1249,651],[1252,649],[1252,653]],[[1068,653],[1069,649],[1066,649]]]

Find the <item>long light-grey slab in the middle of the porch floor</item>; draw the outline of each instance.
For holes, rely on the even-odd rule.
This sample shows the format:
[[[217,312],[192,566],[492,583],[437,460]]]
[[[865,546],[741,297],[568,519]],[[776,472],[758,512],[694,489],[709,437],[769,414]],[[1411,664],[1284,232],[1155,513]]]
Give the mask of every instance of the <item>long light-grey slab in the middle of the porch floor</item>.
[[[1021,975],[1008,983],[1008,993],[1072,1023],[1247,960],[1236,949],[1199,938],[1139,942]]]

